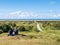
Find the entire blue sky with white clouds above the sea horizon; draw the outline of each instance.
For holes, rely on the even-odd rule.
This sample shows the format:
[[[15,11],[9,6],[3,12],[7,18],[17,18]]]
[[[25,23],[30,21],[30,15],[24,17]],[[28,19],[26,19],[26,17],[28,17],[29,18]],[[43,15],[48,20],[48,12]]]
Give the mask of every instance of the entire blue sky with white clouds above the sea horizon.
[[[0,19],[60,19],[60,0],[0,0]]]

